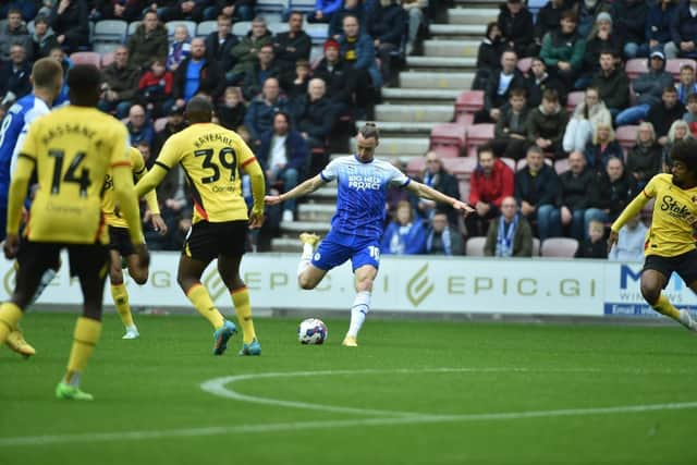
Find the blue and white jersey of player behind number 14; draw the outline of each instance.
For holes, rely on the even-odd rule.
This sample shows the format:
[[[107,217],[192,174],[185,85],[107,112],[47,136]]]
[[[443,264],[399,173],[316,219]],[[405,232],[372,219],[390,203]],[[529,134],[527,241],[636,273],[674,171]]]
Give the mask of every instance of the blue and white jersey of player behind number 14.
[[[32,123],[50,109],[44,100],[26,95],[17,100],[5,114],[0,124],[0,204],[7,205],[13,159],[16,159],[26,131]]]

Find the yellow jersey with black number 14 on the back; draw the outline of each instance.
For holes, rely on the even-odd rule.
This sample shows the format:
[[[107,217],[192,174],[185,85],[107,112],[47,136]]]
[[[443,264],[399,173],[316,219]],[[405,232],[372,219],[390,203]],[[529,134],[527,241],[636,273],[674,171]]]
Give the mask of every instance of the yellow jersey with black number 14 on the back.
[[[36,120],[20,157],[35,162],[38,191],[25,235],[35,242],[108,241],[101,192],[110,167],[130,166],[125,126],[95,108],[63,107]]]

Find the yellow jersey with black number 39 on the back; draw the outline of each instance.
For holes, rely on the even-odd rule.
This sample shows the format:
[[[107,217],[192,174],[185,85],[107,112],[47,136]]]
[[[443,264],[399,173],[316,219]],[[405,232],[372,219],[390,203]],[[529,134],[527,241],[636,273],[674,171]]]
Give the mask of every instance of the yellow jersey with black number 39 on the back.
[[[235,132],[213,123],[192,124],[170,136],[156,164],[171,169],[179,163],[194,197],[193,223],[246,220],[240,170],[255,160]]]

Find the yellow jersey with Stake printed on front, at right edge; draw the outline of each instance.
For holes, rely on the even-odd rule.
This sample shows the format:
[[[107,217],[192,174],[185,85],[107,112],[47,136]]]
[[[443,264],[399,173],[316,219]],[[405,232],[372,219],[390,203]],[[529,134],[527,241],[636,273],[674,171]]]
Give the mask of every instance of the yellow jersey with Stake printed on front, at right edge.
[[[673,184],[672,174],[657,174],[639,195],[656,198],[646,255],[674,257],[695,249],[692,221],[697,217],[697,187],[682,189]]]

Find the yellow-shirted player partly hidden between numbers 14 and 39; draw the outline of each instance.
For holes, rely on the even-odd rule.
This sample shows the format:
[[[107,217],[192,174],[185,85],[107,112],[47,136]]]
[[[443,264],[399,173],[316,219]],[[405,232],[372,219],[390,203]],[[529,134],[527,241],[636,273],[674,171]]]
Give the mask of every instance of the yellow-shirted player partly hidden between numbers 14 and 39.
[[[145,175],[145,160],[143,155],[135,147],[129,147],[131,157],[131,170],[133,178],[137,181]],[[155,191],[150,191],[146,196],[148,209],[152,213],[152,227],[160,235],[167,234],[167,224],[160,216],[160,207],[157,203]],[[148,280],[148,268],[138,265],[138,256],[135,253],[131,237],[129,236],[129,224],[117,208],[117,198],[114,196],[114,185],[111,172],[107,173],[105,181],[103,198],[101,209],[107,219],[109,227],[109,255],[111,256],[111,266],[109,267],[109,282],[111,283],[111,297],[113,304],[119,311],[121,322],[125,327],[126,333],[123,339],[136,339],[140,335],[138,328],[133,321],[131,314],[131,305],[129,304],[129,292],[123,283],[123,271],[121,267],[122,257],[129,267],[129,274],[137,284],[145,284]]]

